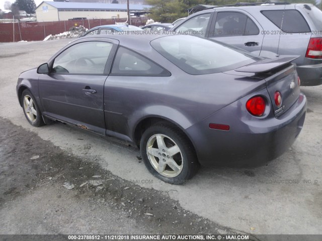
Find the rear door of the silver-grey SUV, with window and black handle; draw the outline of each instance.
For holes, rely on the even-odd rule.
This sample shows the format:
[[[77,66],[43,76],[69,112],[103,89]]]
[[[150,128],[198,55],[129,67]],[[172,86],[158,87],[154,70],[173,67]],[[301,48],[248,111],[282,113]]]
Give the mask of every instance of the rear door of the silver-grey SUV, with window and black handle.
[[[264,34],[262,26],[245,11],[216,10],[206,37],[260,55]]]

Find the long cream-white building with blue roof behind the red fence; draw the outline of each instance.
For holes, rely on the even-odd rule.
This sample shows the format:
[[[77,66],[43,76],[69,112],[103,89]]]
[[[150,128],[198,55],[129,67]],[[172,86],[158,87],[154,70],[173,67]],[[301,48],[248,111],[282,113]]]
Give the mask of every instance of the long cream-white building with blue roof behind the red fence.
[[[130,11],[149,9],[149,5],[130,5]],[[126,18],[126,4],[42,2],[36,9],[38,22],[64,21],[74,18],[111,19]]]

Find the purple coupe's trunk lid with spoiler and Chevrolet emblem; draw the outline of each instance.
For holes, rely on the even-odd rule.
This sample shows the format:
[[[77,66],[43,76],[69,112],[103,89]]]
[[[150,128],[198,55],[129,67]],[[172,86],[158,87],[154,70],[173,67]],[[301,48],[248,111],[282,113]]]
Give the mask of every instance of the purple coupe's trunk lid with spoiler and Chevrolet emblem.
[[[296,59],[296,56],[281,56],[235,69],[237,72],[253,72],[256,77],[265,79],[276,117],[285,113],[300,95],[296,65],[290,63],[294,59]],[[276,91],[279,91],[282,96],[280,106],[275,103],[274,95]]]

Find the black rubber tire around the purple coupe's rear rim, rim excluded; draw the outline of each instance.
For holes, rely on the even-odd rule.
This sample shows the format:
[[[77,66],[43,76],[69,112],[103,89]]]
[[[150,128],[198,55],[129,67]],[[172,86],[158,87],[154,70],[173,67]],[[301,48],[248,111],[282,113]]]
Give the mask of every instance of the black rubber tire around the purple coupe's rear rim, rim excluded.
[[[163,134],[170,137],[180,148],[181,154],[183,156],[183,169],[181,173],[176,177],[165,177],[162,174],[158,173],[152,166],[149,161],[149,158],[146,153],[146,144],[149,138],[156,134]],[[178,132],[175,128],[167,125],[155,125],[152,126],[143,133],[141,142],[140,142],[140,151],[142,155],[143,162],[146,168],[157,178],[163,180],[164,182],[171,184],[183,184],[187,183],[189,179],[194,175],[194,168],[196,167],[196,156],[191,144],[187,138]]]

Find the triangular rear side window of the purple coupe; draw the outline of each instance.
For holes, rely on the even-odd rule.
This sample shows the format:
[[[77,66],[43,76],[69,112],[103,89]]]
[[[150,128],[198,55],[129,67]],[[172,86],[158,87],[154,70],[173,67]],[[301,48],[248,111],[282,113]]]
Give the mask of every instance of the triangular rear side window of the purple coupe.
[[[170,72],[146,59],[145,57],[123,47],[119,47],[113,68],[114,75],[127,76],[170,76]]]

